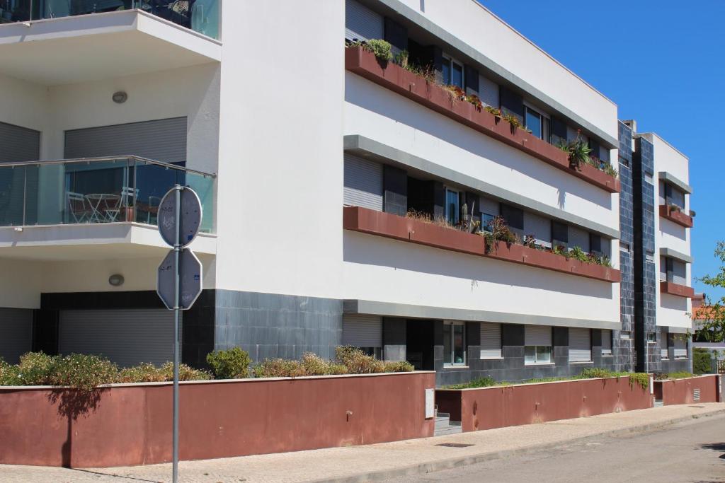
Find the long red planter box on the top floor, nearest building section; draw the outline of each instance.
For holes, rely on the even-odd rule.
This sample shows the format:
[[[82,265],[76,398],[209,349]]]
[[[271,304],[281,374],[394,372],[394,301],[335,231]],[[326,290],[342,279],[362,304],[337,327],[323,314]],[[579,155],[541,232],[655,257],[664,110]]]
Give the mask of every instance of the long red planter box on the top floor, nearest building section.
[[[556,146],[537,138],[523,129],[516,129],[509,122],[494,117],[484,109],[477,110],[467,101],[456,101],[439,85],[428,83],[422,77],[409,72],[393,62],[381,62],[374,54],[360,47],[345,49],[345,69],[365,77],[418,104],[433,109],[463,125],[520,149],[553,167],[562,169],[609,193],[619,193],[620,182],[593,166],[584,165],[581,171],[569,165],[568,154]]]

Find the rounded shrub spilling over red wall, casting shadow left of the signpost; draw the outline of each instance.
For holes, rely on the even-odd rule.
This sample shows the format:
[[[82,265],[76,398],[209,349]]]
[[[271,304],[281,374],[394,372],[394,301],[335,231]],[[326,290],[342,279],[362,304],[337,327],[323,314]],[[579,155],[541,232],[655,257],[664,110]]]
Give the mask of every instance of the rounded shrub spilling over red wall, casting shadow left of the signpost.
[[[100,385],[112,384],[117,377],[118,366],[107,358],[70,354],[54,358],[49,380],[54,386],[69,386],[88,391]]]

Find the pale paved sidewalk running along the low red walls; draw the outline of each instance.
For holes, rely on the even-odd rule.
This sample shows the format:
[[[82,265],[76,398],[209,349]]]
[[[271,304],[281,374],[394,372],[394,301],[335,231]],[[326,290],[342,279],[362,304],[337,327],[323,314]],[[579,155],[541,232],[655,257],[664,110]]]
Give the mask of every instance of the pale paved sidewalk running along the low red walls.
[[[505,458],[602,434],[659,429],[705,416],[725,416],[725,404],[663,406],[378,445],[188,461],[180,464],[179,475],[181,482],[204,483],[374,481]],[[446,442],[467,446],[440,446]],[[97,470],[0,465],[0,482],[169,482],[170,479],[169,464]]]

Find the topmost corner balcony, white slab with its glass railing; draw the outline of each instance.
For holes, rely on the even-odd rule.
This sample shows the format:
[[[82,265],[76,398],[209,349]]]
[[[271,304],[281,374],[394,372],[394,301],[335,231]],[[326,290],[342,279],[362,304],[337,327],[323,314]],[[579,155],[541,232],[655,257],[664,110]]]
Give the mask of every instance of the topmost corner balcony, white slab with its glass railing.
[[[192,4],[186,12],[191,17],[173,7],[164,12],[161,7],[144,7],[155,3],[36,0],[33,20],[26,21],[22,19],[30,17],[27,10],[2,7],[22,1],[0,0],[0,22],[5,22],[0,23],[0,74],[64,85],[220,62],[221,43],[213,38],[218,30],[217,0],[186,2]],[[121,4],[137,8],[119,10]],[[207,4],[212,8],[202,8]]]

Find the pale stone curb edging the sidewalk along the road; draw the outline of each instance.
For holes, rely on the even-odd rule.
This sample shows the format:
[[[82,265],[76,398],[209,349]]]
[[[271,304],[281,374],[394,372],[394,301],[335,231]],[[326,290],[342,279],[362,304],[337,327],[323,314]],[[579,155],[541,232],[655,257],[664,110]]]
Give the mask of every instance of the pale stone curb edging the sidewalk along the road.
[[[571,445],[587,440],[592,440],[602,436],[625,436],[627,434],[635,434],[640,432],[652,431],[654,429],[662,429],[673,424],[691,421],[692,419],[708,418],[711,416],[719,416],[725,414],[725,408],[711,411],[704,414],[690,414],[689,416],[679,416],[677,418],[668,419],[666,421],[658,421],[656,423],[639,424],[638,426],[610,429],[608,431],[599,432],[597,434],[589,434],[588,436],[575,437],[571,440],[560,440],[557,442],[547,442],[539,445],[526,446],[525,448],[516,448],[513,450],[489,451],[478,455],[469,455],[463,458],[445,458],[430,463],[420,463],[412,466],[404,466],[402,468],[386,469],[381,471],[370,471],[352,476],[340,476],[338,478],[323,478],[309,480],[308,483],[364,483],[379,482],[384,479],[400,478],[403,476],[415,476],[416,474],[433,473],[434,471],[442,471],[445,469],[458,468],[460,466],[468,466],[476,463],[484,463],[485,461],[493,461],[503,458],[511,458],[513,456],[527,455],[542,450],[558,448],[561,445]],[[553,421],[552,421],[553,422]]]

